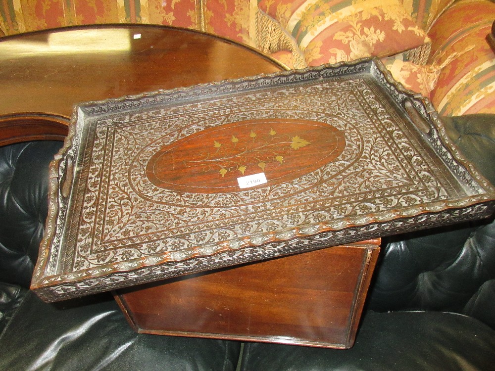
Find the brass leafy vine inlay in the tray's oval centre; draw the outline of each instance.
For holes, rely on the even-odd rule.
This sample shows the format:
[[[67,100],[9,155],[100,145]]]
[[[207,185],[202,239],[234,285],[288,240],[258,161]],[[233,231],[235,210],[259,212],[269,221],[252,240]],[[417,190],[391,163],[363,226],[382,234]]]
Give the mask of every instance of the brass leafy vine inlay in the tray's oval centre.
[[[218,170],[222,178],[228,172],[244,174],[248,168],[265,169],[266,164],[284,163],[284,156],[311,142],[299,136],[277,134],[273,129],[268,133],[257,134],[253,130],[247,137],[232,135],[228,141],[213,140],[215,150],[204,154],[198,160],[184,160],[186,167],[201,166],[203,172]]]

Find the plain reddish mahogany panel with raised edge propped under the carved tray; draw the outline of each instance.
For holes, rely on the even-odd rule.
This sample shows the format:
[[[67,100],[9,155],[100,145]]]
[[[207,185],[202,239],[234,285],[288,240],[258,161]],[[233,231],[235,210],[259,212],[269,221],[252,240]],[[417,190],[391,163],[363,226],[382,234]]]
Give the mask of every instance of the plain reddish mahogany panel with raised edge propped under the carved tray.
[[[349,348],[379,240],[120,289],[139,332]]]

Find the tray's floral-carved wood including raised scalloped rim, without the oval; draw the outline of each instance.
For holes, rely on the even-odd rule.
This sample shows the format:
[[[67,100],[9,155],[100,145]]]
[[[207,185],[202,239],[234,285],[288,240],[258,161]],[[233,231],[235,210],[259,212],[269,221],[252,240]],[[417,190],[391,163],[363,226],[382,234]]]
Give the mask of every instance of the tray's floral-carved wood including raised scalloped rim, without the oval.
[[[257,104],[262,100],[261,95],[273,95],[264,89],[289,83],[290,89],[282,90],[281,95],[290,95],[297,89],[311,88],[315,81],[319,83],[326,78],[339,84],[345,81],[361,84],[362,89],[358,89],[361,95],[355,97],[364,104],[356,110],[356,105],[349,104],[343,97],[345,94],[342,94],[333,102],[341,110],[339,115],[321,113],[316,109],[308,111],[307,102],[301,103],[299,110],[295,111],[303,112],[304,117],[311,120],[329,122],[337,128],[344,125],[339,129],[346,131],[347,140],[355,140],[348,141],[350,144],[346,145],[346,150],[332,163],[335,168],[324,166],[292,183],[259,188],[256,192],[233,192],[235,194],[220,197],[219,202],[216,202],[218,197],[215,198],[215,195],[179,192],[174,196],[166,194],[163,189],[153,193],[153,188],[146,182],[135,181],[143,177],[128,175],[122,178],[119,175],[112,178],[116,175],[109,171],[115,165],[112,163],[113,157],[101,154],[103,143],[112,142],[114,150],[127,148],[123,157],[127,160],[119,164],[120,169],[145,166],[146,156],[136,163],[132,163],[132,159],[137,158],[138,151],[143,149],[143,145],[137,145],[143,136],[153,133],[157,117],[163,116],[163,109],[169,117],[176,115],[177,119],[160,121],[164,134],[155,141],[157,147],[204,130],[208,125],[218,125],[211,120],[201,120],[201,115],[183,115],[180,118],[184,105],[194,108],[196,104],[197,110],[203,109],[205,102],[196,101],[205,95],[226,94],[225,99],[234,103],[244,96],[245,100],[251,99],[251,104]],[[254,93],[238,94],[251,90]],[[432,125],[428,140],[455,175],[452,179],[447,177],[441,180],[433,187],[433,192],[429,186],[437,182],[432,173],[437,164],[417,149],[421,148],[420,142],[411,136],[411,132],[396,130],[396,124],[400,126],[404,122],[396,111],[384,104],[380,97],[383,91],[387,91],[399,105],[403,105],[405,100],[411,101]],[[312,105],[328,104],[323,94],[315,94],[312,98]],[[177,101],[184,103],[177,107],[174,105]],[[253,112],[265,115],[267,109]],[[273,107],[270,109],[275,111]],[[211,107],[206,108],[205,112],[208,110],[212,111]],[[383,137],[373,137],[371,134],[374,133],[366,132],[366,128],[362,127],[359,131],[353,130],[353,116],[371,120],[375,126],[380,126]],[[233,117],[231,115],[230,119]],[[397,86],[383,66],[375,61],[259,76],[78,107],[66,145],[50,168],[52,200],[57,198],[57,204],[50,204],[46,238],[40,252],[40,264],[35,269],[34,287],[40,296],[53,300],[347,243],[384,233],[407,232],[418,228],[418,224],[424,228],[488,215],[493,204],[485,201],[493,199],[493,189],[483,179],[479,181],[472,167],[466,169],[459,166],[457,158],[461,156],[455,148],[446,148],[444,142],[448,139],[438,124],[438,116],[431,103]],[[132,130],[138,126],[138,132],[133,133]],[[104,129],[96,130],[97,127]],[[410,172],[400,166],[386,165],[384,153],[387,146],[384,144],[393,142],[400,143],[400,148],[397,148],[399,152],[419,170]],[[372,148],[379,150],[373,151]],[[95,156],[92,157],[93,153]],[[90,159],[96,165],[82,167],[79,178],[76,177],[73,186],[85,191],[64,198],[59,193],[59,174],[63,172],[68,158],[76,159],[76,168]],[[368,174],[358,176],[355,169],[354,172],[351,170],[358,161],[362,161],[359,171],[374,171],[375,175],[381,174],[383,178],[367,177]],[[127,171],[132,174],[132,171]],[[336,174],[344,177],[338,181]],[[397,175],[398,178],[394,178]],[[363,178],[367,181],[360,182],[359,179]],[[465,183],[463,189],[455,178]],[[407,194],[412,181],[419,185],[414,196]],[[379,189],[373,182],[388,183]],[[356,189],[358,196],[355,195]],[[147,195],[143,197],[145,193]],[[297,197],[284,198],[287,193],[297,193]],[[447,199],[447,193],[453,194],[453,198]],[[270,202],[253,202],[250,198],[253,194],[256,199],[277,200],[279,208],[271,208]],[[158,195],[164,200],[163,206],[152,202],[152,198]],[[110,200],[106,210],[102,208],[100,197]],[[232,202],[239,201],[239,197],[248,204],[244,215],[233,214],[228,208]],[[300,197],[311,200],[306,204],[294,201]],[[333,198],[332,204],[328,201],[330,198]],[[154,206],[142,207],[143,202]],[[84,204],[84,212],[71,215],[69,210],[74,204]],[[201,204],[211,206],[198,207]],[[125,227],[115,230],[116,226],[125,226],[131,217],[140,221],[140,231],[126,232]],[[260,220],[263,222],[260,223]],[[225,221],[230,227],[223,228]],[[77,233],[77,251],[59,253],[62,244],[76,243],[75,237],[66,230],[75,228],[79,222],[81,229]],[[160,230],[165,224],[171,228]]]

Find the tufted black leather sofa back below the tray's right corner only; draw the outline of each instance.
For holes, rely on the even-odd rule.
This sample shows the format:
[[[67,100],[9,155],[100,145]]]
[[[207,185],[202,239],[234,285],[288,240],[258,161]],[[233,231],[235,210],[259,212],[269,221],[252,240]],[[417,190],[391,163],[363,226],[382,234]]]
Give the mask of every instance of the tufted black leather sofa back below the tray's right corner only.
[[[494,301],[487,300],[495,292],[494,222],[395,238],[384,249],[370,309],[470,314],[495,328]]]

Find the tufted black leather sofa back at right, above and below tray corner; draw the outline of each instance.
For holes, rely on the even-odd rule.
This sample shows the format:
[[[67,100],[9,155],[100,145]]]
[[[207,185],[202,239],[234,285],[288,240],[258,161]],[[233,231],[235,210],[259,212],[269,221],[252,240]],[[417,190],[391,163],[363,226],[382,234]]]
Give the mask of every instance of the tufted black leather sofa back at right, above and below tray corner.
[[[444,118],[447,134],[495,184],[495,115]],[[369,308],[484,314],[495,328],[495,222],[480,221],[384,240]]]

